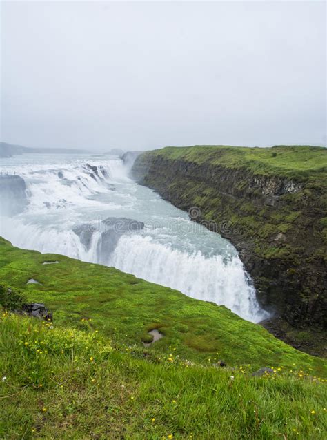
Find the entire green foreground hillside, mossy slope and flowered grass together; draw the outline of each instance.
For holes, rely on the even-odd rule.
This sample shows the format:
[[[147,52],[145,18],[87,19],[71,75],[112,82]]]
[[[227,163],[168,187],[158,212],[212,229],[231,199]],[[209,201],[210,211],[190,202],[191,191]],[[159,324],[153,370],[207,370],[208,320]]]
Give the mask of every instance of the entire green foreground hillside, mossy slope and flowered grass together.
[[[54,313],[0,316],[1,439],[326,438],[326,362],[225,307],[2,238],[0,285]]]

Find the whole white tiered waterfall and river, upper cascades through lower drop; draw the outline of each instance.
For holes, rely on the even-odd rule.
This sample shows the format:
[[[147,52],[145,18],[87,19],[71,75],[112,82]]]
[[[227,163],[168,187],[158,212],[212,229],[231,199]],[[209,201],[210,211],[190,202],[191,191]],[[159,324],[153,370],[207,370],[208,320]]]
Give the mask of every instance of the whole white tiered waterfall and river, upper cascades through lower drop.
[[[18,247],[117,267],[249,321],[266,318],[235,248],[135,184],[129,167],[108,155],[1,160],[0,235]]]

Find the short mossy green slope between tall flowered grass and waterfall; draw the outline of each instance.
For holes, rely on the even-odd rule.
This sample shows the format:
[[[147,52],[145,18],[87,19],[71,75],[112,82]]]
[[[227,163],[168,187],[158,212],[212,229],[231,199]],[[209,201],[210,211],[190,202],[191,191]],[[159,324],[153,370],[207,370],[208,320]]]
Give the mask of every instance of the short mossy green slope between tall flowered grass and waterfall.
[[[48,260],[59,264],[41,264]],[[30,278],[41,285],[26,285]],[[293,349],[225,307],[194,300],[114,268],[18,249],[3,239],[0,280],[26,292],[31,301],[46,303],[54,312],[54,323],[96,328],[120,345],[141,347],[146,332],[159,328],[165,337],[150,351],[161,355],[174,351],[182,358],[206,363],[224,359],[232,366],[250,364],[250,370],[295,364],[324,374],[326,367],[321,358]]]

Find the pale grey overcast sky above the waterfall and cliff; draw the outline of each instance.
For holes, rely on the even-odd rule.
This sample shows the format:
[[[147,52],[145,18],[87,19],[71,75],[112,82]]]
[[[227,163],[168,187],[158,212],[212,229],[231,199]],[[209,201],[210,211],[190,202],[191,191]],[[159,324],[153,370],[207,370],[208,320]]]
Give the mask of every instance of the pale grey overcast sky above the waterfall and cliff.
[[[323,1],[1,6],[4,142],[326,143]]]

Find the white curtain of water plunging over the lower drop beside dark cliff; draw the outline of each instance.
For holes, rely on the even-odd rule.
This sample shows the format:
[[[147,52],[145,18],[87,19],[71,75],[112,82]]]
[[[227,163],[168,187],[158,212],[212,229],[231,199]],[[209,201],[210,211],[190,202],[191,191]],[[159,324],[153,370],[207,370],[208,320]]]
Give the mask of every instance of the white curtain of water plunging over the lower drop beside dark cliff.
[[[220,255],[206,258],[201,251],[187,254],[149,236],[123,236],[108,265],[192,298],[224,304],[245,319],[253,319],[256,313],[260,316],[254,291],[237,256],[226,264]]]

